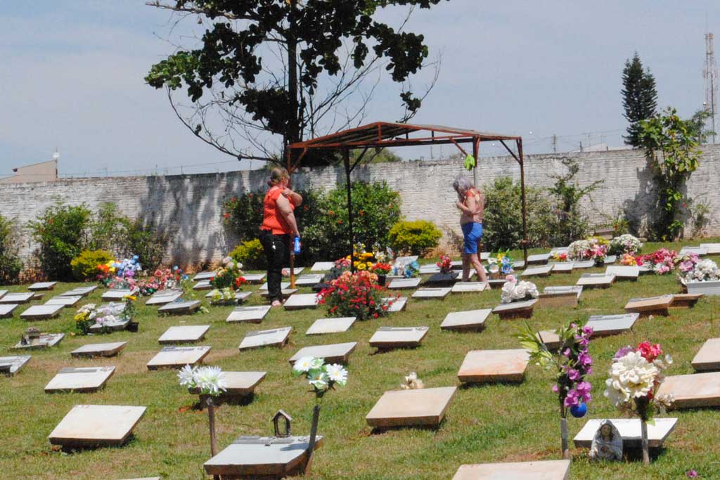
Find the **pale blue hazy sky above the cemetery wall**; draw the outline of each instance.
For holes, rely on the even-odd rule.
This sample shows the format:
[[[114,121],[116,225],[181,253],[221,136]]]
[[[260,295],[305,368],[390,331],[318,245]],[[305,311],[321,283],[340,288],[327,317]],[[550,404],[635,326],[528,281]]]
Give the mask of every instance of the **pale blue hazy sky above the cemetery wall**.
[[[487,8],[486,8],[487,7]],[[384,12],[397,23],[404,10]],[[167,12],[145,0],[6,0],[0,6],[0,176],[60,153],[60,176],[123,176],[258,168],[197,140],[163,91],[143,81],[172,53]],[[417,123],[522,135],[526,153],[622,145],[621,73],[635,51],[655,76],[659,107],[689,117],[705,99],[704,34],[720,35],[720,2],[443,1],[408,30],[441,53]],[[175,38],[197,31],[184,23]],[[428,81],[430,71],[415,79]],[[399,117],[381,81],[367,122]],[[499,145],[482,145],[485,155]],[[455,153],[407,149],[405,158]]]

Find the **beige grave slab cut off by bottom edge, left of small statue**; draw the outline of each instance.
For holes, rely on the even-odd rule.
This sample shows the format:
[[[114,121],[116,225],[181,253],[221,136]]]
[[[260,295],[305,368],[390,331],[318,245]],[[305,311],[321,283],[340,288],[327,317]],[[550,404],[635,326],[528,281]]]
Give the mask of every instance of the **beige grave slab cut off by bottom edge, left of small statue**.
[[[570,460],[461,465],[453,480],[567,480]]]

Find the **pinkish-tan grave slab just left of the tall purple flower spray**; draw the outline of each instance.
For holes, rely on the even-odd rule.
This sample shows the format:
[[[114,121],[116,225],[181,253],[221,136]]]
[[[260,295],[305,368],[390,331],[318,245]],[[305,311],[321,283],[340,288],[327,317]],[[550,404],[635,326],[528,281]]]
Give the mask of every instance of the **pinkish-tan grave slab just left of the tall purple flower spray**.
[[[464,384],[495,381],[523,381],[530,354],[513,350],[472,350],[467,353],[457,378]]]

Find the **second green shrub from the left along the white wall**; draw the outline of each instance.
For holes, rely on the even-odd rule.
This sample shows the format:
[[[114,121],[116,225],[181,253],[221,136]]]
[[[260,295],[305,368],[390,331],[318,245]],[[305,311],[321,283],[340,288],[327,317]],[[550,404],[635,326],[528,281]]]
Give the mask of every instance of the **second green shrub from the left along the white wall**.
[[[28,224],[38,244],[40,268],[48,279],[71,279],[70,263],[87,244],[91,217],[84,204],[71,207],[57,203]]]

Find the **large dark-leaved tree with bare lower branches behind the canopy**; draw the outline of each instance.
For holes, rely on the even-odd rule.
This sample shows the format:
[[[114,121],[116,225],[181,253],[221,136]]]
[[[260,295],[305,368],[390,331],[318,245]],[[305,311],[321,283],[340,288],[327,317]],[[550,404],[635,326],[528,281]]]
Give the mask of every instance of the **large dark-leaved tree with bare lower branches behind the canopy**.
[[[197,48],[156,63],[145,81],[166,87],[179,119],[213,147],[239,157],[246,153],[238,143],[250,144],[282,164],[266,133],[287,145],[359,124],[377,80],[365,83],[383,69],[400,84],[400,121],[413,117],[432,83],[415,94],[408,79],[423,68],[428,47],[423,35],[403,30],[407,18],[395,30],[376,17],[391,6],[412,12],[440,1],[156,0],[150,5],[208,27]],[[172,99],[183,87],[188,114]],[[309,153],[303,163],[334,158]]]

